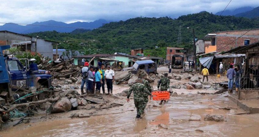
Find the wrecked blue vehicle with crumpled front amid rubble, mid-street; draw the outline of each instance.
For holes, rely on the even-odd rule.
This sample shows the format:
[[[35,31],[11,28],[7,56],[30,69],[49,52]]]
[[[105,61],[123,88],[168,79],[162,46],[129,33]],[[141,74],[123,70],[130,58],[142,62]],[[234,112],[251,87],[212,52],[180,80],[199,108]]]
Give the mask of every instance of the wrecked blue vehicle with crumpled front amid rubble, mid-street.
[[[136,61],[132,67],[124,68],[125,70],[131,70],[133,74],[137,74],[139,69],[145,70],[148,74],[149,73],[157,73],[157,64],[152,60],[145,60],[145,61]]]

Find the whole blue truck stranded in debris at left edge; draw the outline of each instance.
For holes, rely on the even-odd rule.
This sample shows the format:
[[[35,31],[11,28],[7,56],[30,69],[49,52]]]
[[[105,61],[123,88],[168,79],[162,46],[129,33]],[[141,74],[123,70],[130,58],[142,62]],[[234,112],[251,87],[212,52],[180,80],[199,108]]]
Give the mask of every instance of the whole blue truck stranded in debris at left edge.
[[[4,103],[13,100],[13,97],[16,99],[22,96],[19,92],[14,96],[12,91],[23,90],[23,93],[24,91],[35,93],[38,90],[37,87],[51,87],[52,76],[49,71],[39,70],[34,63],[35,59],[18,59],[4,55],[3,50],[9,48],[10,45],[0,46],[0,97],[5,100]]]

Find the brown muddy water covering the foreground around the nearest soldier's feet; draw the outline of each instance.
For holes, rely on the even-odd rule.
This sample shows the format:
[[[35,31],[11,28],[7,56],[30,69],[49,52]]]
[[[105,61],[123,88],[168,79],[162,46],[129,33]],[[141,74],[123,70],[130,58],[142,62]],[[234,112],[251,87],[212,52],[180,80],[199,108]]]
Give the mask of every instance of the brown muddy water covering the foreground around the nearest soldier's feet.
[[[128,106],[133,108],[133,102]],[[233,109],[219,109],[227,106]],[[134,110],[90,118],[20,124],[0,132],[0,136],[258,136],[259,114],[230,114],[241,111],[228,98],[219,95],[186,95],[173,97],[162,106],[149,101],[146,115],[138,121]],[[223,114],[227,122],[204,121],[206,114]],[[191,115],[200,116],[201,121],[188,121]],[[167,125],[168,129],[158,128],[160,123]],[[196,132],[196,129],[204,132]]]

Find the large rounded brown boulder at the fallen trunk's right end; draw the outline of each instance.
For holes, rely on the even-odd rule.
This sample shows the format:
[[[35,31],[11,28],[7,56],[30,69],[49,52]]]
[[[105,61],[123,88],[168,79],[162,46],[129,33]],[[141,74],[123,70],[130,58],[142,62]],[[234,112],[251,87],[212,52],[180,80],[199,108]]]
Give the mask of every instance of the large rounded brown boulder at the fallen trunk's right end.
[[[52,106],[51,113],[70,111],[71,107],[71,102],[67,98],[63,97]]]

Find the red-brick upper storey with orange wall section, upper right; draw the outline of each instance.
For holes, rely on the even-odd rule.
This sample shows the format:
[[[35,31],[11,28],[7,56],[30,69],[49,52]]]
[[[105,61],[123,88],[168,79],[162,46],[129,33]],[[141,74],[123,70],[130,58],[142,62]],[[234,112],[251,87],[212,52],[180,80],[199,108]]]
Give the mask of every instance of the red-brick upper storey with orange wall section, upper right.
[[[250,31],[232,30],[208,33],[204,40],[204,51],[205,53],[211,53],[213,51],[220,53],[239,46],[256,43],[258,40],[259,29],[252,29]]]

